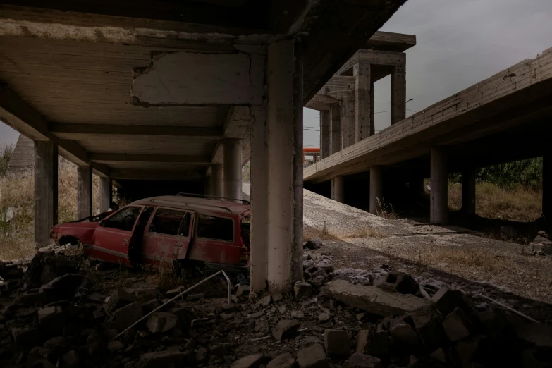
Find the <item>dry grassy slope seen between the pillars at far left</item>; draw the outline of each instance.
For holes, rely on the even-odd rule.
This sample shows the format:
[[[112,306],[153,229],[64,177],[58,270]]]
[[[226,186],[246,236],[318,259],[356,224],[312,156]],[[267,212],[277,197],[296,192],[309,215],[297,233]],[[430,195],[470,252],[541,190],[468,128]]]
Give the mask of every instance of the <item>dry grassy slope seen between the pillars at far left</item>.
[[[0,231],[0,259],[16,259],[35,252],[34,190],[32,171],[0,177],[0,211],[15,216]],[[60,157],[58,172],[58,221],[77,219],[77,166]],[[99,178],[92,180],[92,209],[99,212]]]

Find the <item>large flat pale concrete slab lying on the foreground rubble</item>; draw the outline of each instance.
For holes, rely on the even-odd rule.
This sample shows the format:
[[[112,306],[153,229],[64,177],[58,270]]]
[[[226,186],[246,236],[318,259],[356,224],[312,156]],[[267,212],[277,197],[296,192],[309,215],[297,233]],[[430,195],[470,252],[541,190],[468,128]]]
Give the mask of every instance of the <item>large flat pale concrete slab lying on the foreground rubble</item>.
[[[374,286],[353,285],[345,280],[326,283],[330,295],[350,307],[381,316],[402,315],[429,305],[429,300],[410,294],[391,293]]]

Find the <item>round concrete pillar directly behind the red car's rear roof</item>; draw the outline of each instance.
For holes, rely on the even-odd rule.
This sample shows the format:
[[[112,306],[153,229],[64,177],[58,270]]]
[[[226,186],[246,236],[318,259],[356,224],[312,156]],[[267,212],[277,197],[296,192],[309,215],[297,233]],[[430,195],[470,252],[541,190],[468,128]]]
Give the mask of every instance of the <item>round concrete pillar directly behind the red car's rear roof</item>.
[[[242,140],[224,140],[224,197],[242,199]]]

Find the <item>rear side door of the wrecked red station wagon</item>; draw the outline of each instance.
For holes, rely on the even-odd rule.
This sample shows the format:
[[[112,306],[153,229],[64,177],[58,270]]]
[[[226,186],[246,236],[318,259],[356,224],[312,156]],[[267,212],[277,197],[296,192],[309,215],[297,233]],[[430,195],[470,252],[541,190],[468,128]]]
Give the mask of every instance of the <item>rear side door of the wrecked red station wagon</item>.
[[[144,235],[142,257],[148,263],[172,265],[184,258],[190,245],[192,213],[182,209],[159,207]]]

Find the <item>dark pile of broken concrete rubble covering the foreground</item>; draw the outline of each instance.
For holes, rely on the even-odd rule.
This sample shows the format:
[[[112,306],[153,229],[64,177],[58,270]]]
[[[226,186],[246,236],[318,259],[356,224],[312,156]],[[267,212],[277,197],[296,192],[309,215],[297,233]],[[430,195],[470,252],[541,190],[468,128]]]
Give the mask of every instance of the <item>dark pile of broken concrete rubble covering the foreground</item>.
[[[256,295],[238,283],[228,304],[200,287],[116,339],[183,287],[162,292],[126,278],[102,295],[94,290],[102,272],[79,270],[49,271],[37,285],[39,265],[65,263],[39,253],[1,284],[11,303],[0,312],[0,366],[551,367],[551,326],[477,305],[460,290],[426,290],[388,266],[371,285],[352,283],[325,262],[331,255],[310,253],[320,247],[306,247],[305,281],[293,295]]]

